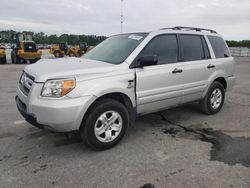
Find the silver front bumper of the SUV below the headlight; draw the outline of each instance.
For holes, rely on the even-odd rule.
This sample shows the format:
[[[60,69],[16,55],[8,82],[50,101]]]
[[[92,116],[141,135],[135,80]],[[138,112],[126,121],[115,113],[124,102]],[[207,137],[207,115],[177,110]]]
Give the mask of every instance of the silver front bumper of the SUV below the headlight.
[[[28,96],[18,87],[16,105],[30,124],[53,132],[78,131],[94,96],[51,99],[40,97],[42,84],[34,83]]]

